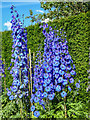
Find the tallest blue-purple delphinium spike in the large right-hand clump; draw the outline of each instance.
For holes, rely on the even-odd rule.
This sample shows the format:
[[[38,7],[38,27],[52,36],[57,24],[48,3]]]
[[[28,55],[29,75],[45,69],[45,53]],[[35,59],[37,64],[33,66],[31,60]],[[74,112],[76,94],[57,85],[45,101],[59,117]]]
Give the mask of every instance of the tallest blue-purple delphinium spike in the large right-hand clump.
[[[45,26],[45,25],[44,25]],[[46,27],[48,27],[48,25],[46,24]],[[51,30],[51,28],[49,28]],[[43,30],[45,30],[45,27],[43,27]],[[54,37],[53,32],[49,32],[49,34],[45,31],[44,35],[46,37],[46,39],[44,40],[44,62],[43,62],[43,67],[46,65],[47,67],[44,67],[45,70],[45,75],[47,75],[48,77],[45,78],[44,80],[47,83],[47,86],[45,86],[45,90],[46,92],[48,92],[48,96],[49,94],[53,94],[54,95],[54,82],[53,82],[53,50],[52,50],[52,40]],[[51,86],[52,85],[52,86]],[[50,99],[50,96],[49,96]]]

